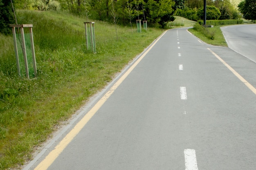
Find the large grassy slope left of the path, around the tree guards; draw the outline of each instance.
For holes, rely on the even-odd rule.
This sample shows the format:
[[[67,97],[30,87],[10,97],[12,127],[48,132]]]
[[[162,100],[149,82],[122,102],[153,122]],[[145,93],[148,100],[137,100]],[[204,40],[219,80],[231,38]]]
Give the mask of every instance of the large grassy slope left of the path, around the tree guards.
[[[16,168],[163,30],[95,21],[97,53],[85,46],[84,18],[64,12],[18,11],[33,24],[38,77],[17,75],[12,36],[0,34],[0,169]]]

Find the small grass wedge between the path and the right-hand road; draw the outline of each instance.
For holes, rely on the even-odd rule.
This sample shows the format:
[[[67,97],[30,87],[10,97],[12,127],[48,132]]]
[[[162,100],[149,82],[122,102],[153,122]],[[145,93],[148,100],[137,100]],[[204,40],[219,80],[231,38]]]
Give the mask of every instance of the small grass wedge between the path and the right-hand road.
[[[223,25],[222,25],[223,26]],[[197,31],[194,28],[189,29],[191,33],[193,33],[196,37],[198,37],[203,42],[206,42],[207,44],[216,45],[216,46],[227,46],[227,42],[222,34],[222,31],[220,29],[221,26],[214,26],[213,28],[207,28],[209,31],[214,33],[214,39],[207,38],[204,33]]]

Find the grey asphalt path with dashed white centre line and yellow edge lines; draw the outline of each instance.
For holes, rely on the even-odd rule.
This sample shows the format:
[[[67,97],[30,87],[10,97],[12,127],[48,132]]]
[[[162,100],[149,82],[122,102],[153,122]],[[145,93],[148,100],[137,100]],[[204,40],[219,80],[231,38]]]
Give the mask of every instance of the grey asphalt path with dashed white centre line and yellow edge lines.
[[[256,63],[171,29],[25,169],[255,170]]]

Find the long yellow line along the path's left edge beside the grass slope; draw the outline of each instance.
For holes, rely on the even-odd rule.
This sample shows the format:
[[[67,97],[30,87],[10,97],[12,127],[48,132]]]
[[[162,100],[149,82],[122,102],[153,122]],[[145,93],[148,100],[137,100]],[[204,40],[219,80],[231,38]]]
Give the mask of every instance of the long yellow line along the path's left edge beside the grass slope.
[[[58,145],[41,161],[34,170],[47,170],[52,165],[54,160],[61,154],[66,146],[74,139],[74,137],[80,132],[80,130],[87,124],[87,122],[93,117],[93,115],[101,108],[101,106],[107,101],[107,99],[114,93],[115,89],[124,81],[124,79],[130,74],[130,72],[139,64],[139,62],[145,57],[145,55],[152,49],[152,47],[158,42],[158,40],[166,33],[157,38],[157,40],[139,57],[139,59],[132,64],[132,66],[120,77],[120,79],[105,93],[105,95],[93,106],[93,108],[76,124],[76,126],[58,143]]]

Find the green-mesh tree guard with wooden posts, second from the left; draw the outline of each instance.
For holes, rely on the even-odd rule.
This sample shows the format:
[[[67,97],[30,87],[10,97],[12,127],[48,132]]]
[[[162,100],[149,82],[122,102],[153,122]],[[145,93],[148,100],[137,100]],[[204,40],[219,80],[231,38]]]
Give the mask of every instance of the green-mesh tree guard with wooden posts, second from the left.
[[[94,22],[84,22],[85,24],[85,39],[87,50],[92,50],[96,53]]]

